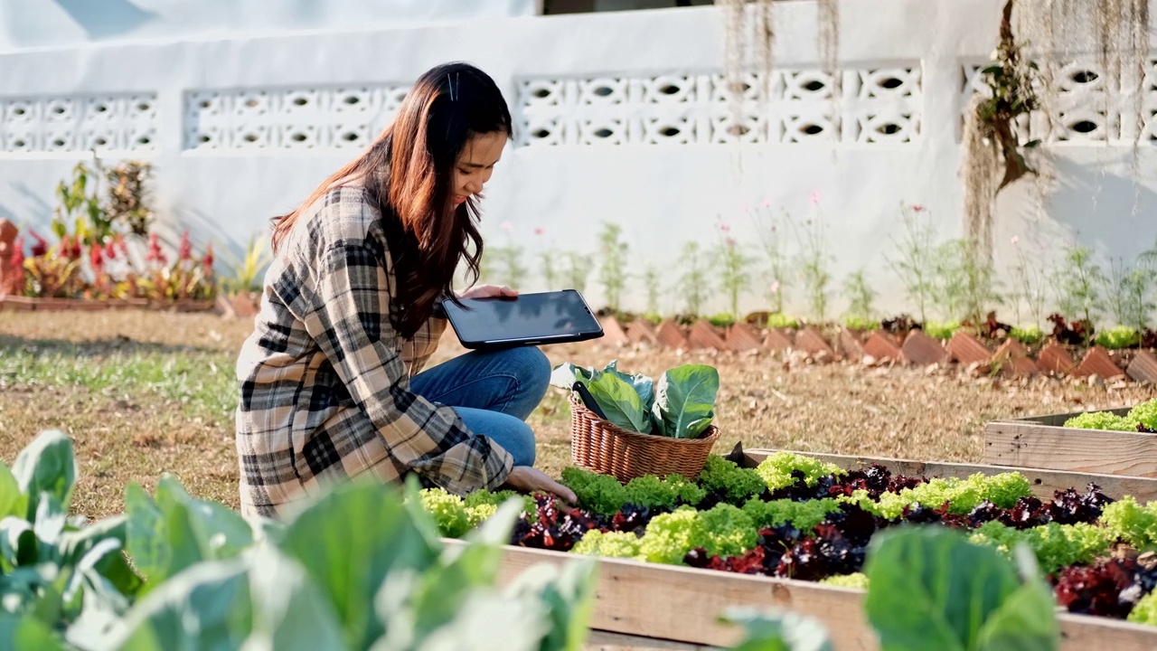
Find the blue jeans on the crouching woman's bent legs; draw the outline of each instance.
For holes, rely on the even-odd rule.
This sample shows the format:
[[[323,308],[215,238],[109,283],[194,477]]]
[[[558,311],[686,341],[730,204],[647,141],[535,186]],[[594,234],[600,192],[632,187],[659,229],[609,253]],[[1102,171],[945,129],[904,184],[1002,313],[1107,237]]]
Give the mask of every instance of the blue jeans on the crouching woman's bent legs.
[[[410,380],[410,389],[430,402],[452,407],[466,427],[514,456],[515,466],[535,465],[535,432],[525,423],[546,395],[551,363],[537,348],[471,351]]]

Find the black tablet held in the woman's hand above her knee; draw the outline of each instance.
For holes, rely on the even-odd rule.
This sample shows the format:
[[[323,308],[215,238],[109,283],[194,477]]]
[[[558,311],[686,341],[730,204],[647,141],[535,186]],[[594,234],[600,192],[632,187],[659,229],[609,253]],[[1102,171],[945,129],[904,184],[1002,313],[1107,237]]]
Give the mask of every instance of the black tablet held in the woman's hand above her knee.
[[[561,344],[603,336],[603,327],[576,290],[463,299],[462,307],[447,299],[442,306],[467,349]]]

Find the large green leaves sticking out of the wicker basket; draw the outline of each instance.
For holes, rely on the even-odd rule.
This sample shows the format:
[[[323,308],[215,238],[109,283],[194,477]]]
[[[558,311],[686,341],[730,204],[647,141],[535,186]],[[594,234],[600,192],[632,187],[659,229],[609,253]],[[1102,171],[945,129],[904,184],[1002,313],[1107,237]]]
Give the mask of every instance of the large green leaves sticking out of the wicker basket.
[[[694,439],[715,418],[720,375],[712,366],[676,366],[657,382],[641,373],[622,373],[618,360],[603,371],[563,363],[551,374],[551,385],[567,392],[576,381],[587,386],[607,420],[627,431]]]

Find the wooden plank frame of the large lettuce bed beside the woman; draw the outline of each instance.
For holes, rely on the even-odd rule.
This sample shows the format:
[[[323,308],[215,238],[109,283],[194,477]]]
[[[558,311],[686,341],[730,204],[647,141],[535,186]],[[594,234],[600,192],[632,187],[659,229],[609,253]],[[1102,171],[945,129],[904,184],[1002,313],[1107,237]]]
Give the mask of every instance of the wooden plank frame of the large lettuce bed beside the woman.
[[[745,466],[753,467],[776,451],[751,449]],[[929,477],[967,477],[1023,473],[1041,497],[1066,488],[1097,483],[1110,497],[1134,495],[1157,499],[1157,480],[1117,477],[1088,473],[1007,468],[967,463],[937,463],[870,456],[808,454],[845,469],[879,463],[893,473]],[[451,544],[460,544],[451,541]],[[508,546],[500,583],[506,584],[538,563],[562,564],[575,556],[559,551]],[[879,643],[863,610],[864,592],[812,581],[775,579],[715,570],[599,558],[589,649],[693,650],[731,646],[742,638],[740,627],[723,624],[716,616],[734,606],[784,608],[819,619],[837,651],[878,651]],[[1157,628],[1084,615],[1060,614],[1063,651],[1157,649]]]

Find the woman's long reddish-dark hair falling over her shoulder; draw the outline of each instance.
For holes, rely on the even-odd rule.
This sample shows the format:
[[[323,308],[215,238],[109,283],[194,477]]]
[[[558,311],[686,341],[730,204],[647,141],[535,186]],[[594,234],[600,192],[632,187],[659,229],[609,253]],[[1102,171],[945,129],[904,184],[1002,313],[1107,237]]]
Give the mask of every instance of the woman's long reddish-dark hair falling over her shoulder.
[[[442,295],[454,295],[454,273],[465,258],[478,279],[482,239],[478,206],[454,205],[455,163],[474,134],[511,133],[510,110],[494,80],[474,66],[443,64],[421,75],[393,122],[361,156],[317,186],[296,210],[274,218],[277,253],[294,224],[315,202],[351,178],[364,178],[378,203],[397,278],[390,319],[405,337],[430,317]],[[397,307],[406,309],[398,310]]]

